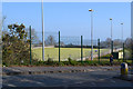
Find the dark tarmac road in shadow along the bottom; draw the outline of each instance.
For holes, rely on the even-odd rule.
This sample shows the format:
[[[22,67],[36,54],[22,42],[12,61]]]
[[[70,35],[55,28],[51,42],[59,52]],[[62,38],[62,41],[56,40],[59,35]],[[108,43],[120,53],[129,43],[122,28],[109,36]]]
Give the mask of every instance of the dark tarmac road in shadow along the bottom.
[[[117,70],[88,72],[3,76],[3,87],[133,87],[133,82],[115,79]]]

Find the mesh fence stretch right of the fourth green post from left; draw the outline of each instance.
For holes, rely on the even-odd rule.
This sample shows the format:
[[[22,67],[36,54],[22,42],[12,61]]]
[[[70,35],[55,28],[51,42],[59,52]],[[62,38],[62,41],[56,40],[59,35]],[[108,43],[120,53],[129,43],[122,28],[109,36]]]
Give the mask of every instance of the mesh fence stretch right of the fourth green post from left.
[[[112,40],[112,41],[101,41],[100,42],[100,60],[102,61],[109,61],[110,57],[113,55],[113,62],[114,63],[121,63],[121,62],[127,62],[131,65],[131,41],[122,41],[122,40]]]

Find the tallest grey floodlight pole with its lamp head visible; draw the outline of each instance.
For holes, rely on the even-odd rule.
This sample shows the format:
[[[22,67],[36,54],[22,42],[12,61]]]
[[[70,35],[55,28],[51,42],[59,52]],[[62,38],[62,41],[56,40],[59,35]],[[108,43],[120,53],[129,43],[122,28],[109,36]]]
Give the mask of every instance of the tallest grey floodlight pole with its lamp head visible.
[[[91,12],[91,60],[93,60],[93,9],[89,9]]]

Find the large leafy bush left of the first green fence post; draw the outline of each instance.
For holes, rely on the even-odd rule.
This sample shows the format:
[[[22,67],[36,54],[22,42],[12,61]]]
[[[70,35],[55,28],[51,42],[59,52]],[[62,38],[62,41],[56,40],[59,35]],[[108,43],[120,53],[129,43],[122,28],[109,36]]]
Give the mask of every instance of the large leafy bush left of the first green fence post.
[[[24,24],[9,24],[8,32],[2,34],[2,61],[6,65],[29,63],[30,40]]]

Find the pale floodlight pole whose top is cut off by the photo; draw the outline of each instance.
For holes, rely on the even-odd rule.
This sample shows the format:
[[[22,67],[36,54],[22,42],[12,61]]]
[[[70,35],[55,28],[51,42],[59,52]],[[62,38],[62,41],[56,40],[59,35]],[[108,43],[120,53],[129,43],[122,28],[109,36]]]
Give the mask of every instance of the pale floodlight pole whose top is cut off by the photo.
[[[42,0],[42,60],[44,61],[44,27],[43,27],[43,0]]]

